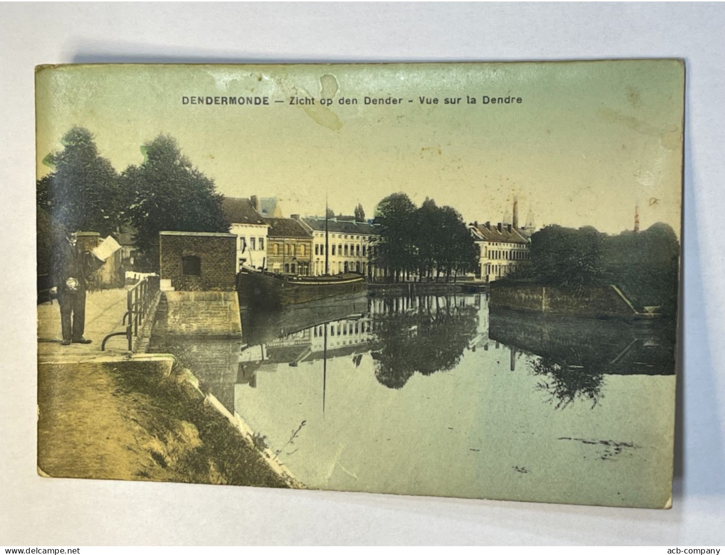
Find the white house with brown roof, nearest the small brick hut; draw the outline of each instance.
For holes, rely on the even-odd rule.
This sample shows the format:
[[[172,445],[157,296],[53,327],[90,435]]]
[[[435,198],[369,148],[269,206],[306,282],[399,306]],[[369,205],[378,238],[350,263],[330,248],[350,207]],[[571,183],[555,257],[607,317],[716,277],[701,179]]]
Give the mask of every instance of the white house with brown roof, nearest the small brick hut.
[[[225,197],[222,202],[224,215],[231,223],[230,233],[237,237],[237,269],[242,265],[264,268],[267,261],[267,233],[269,223],[260,215],[260,200]]]

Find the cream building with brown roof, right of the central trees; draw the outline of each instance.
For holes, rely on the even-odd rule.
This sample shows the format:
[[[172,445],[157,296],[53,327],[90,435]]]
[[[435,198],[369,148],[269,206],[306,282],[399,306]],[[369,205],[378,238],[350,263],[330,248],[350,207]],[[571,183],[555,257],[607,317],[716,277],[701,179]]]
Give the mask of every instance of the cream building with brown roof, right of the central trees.
[[[528,263],[529,239],[512,224],[474,222],[469,229],[479,248],[476,278],[495,281]]]

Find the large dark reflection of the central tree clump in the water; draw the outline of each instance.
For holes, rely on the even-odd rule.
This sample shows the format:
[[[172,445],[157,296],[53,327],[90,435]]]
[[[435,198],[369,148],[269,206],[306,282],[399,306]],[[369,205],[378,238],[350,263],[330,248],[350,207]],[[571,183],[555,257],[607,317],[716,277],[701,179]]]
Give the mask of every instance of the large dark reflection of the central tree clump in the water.
[[[417,297],[410,308],[375,316],[374,331],[381,349],[373,353],[375,375],[382,385],[400,389],[415,372],[429,376],[450,370],[478,329],[473,306],[456,305],[455,297]]]

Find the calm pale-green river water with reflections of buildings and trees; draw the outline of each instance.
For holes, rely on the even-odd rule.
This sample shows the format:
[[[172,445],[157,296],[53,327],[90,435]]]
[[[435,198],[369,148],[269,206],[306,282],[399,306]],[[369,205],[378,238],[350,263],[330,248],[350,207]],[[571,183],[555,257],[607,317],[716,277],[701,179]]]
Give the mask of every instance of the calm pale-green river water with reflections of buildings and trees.
[[[242,328],[220,395],[309,488],[670,496],[674,326],[495,312],[476,294],[336,297],[242,311]]]

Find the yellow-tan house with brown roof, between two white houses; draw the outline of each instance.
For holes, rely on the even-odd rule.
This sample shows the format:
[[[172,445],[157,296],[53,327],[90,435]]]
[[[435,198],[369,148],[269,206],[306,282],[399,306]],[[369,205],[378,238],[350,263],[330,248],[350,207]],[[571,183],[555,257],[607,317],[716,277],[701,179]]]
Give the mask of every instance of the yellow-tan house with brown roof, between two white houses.
[[[297,218],[264,218],[270,226],[267,269],[274,274],[310,275],[312,234]]]

